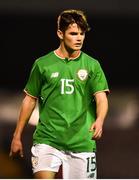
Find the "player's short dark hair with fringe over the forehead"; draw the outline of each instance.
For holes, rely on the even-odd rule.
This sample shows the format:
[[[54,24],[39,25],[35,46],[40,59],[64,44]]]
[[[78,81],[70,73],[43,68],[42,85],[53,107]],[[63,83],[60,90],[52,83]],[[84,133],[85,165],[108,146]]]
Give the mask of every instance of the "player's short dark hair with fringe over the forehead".
[[[57,20],[57,28],[62,32],[68,28],[70,24],[76,23],[83,32],[89,31],[90,26],[83,11],[69,9],[61,12]]]

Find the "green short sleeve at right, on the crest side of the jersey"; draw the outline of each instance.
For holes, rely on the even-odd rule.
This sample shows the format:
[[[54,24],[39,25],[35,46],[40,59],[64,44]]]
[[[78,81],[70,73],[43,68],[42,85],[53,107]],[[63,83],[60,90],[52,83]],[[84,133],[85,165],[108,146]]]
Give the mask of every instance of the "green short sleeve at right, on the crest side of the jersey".
[[[106,91],[109,93],[109,87],[105,74],[98,61],[96,61],[95,68],[92,71],[90,82],[91,91],[93,94],[101,91]]]

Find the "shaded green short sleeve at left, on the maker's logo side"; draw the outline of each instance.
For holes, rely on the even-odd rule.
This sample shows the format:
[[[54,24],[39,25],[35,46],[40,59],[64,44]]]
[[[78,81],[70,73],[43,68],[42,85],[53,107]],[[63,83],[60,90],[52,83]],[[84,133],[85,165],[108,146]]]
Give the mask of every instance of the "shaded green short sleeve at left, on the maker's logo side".
[[[38,97],[41,91],[41,85],[42,75],[37,61],[35,61],[32,66],[29,79],[27,81],[24,91],[31,96]]]

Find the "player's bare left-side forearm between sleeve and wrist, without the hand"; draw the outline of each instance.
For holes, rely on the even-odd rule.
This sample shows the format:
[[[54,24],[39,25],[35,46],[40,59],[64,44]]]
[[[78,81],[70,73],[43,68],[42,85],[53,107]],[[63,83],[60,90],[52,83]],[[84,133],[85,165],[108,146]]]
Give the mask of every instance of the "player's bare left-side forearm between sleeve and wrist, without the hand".
[[[25,125],[27,124],[34,108],[36,106],[36,100],[35,99],[29,99],[27,96],[24,98],[20,114],[19,114],[19,119],[17,121],[16,129],[14,132],[14,137],[15,138],[21,138],[23,129]]]

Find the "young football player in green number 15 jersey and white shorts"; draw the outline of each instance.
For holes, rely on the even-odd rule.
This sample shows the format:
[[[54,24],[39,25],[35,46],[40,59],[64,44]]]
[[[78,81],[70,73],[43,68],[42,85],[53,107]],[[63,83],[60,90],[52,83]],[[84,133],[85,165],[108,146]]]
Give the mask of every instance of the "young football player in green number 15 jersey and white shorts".
[[[81,48],[90,30],[80,10],[65,10],[57,21],[58,49],[37,59],[25,86],[25,98],[10,155],[23,156],[21,135],[36,102],[39,122],[33,135],[35,178],[96,178],[96,139],[108,111],[107,80],[99,62]]]

